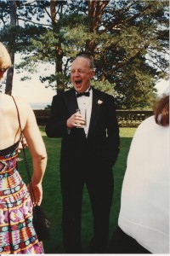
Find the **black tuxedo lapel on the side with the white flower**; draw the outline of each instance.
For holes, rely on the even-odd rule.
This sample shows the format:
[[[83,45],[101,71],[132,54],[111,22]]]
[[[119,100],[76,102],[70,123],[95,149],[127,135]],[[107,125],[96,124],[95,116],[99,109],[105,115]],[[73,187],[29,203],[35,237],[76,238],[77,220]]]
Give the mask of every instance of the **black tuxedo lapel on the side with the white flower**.
[[[99,119],[99,114],[101,112],[101,106],[98,104],[99,100],[101,99],[99,99],[98,92],[93,88],[92,113],[88,129],[88,137],[93,133],[96,122]]]

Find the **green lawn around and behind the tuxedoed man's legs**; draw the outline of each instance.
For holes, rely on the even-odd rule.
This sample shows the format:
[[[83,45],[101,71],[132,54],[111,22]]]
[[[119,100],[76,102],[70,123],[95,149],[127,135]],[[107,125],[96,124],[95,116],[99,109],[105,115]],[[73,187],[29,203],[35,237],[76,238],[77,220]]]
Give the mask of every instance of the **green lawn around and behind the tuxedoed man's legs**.
[[[127,153],[135,130],[136,128],[120,129],[121,151],[116,161],[116,165],[113,168],[115,177],[115,192],[111,207],[110,237],[116,228],[118,213],[120,209],[122,179],[126,170]],[[44,212],[46,212],[48,219],[51,223],[51,239],[50,241],[44,241],[43,244],[45,253],[64,253],[62,247],[61,230],[62,200],[59,180],[60,139],[49,139],[46,136],[43,127],[41,127],[41,132],[48,152],[48,166],[42,183],[42,209],[44,210]],[[31,166],[31,156],[28,151],[26,155]],[[24,161],[20,162],[19,170],[20,175],[26,181],[26,167]],[[88,199],[88,192],[85,188],[82,201],[82,247],[84,249],[84,252],[88,247],[88,243],[91,237],[93,236],[92,223],[92,212]]]

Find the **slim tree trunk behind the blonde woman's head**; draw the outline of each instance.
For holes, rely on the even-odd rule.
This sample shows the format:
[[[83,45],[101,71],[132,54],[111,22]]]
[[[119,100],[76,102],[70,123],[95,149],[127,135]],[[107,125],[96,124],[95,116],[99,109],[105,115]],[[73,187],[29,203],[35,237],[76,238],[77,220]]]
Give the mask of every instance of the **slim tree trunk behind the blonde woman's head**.
[[[15,1],[9,1],[9,6],[10,6],[10,25],[11,26],[16,26],[16,3]],[[14,38],[10,38],[9,45],[14,44]],[[11,61],[12,61],[12,67],[8,69],[7,73],[7,82],[6,82],[6,87],[5,87],[5,94],[11,95],[12,94],[12,88],[13,88],[13,77],[14,77],[14,51],[10,53],[11,56]]]

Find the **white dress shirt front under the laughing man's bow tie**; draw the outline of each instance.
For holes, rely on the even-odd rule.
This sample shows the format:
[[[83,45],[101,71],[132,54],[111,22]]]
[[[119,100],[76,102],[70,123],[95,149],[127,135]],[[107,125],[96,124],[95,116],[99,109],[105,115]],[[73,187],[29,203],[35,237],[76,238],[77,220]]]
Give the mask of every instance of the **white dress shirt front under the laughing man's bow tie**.
[[[88,91],[88,90],[86,90],[86,91]],[[78,108],[80,109],[80,111],[82,113],[82,117],[85,116],[85,109],[86,109],[86,123],[87,123],[87,125],[84,127],[86,137],[88,137],[88,128],[89,128],[89,125],[90,125],[90,118],[91,118],[91,112],[92,112],[93,90],[92,89],[89,90],[89,93],[90,93],[89,96],[81,96],[81,97],[77,98]]]

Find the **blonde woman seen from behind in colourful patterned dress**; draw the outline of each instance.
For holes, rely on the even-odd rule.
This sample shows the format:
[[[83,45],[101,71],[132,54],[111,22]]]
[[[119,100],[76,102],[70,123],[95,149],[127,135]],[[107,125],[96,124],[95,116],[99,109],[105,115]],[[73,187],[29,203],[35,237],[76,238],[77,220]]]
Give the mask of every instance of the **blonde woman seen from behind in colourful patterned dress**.
[[[0,43],[1,80],[8,67],[11,59]],[[17,108],[31,152],[31,182],[37,205],[42,202],[42,177],[47,165],[46,148],[29,104],[20,97],[0,93],[0,253],[40,254],[43,247],[32,225],[31,196],[16,168],[20,140]]]

